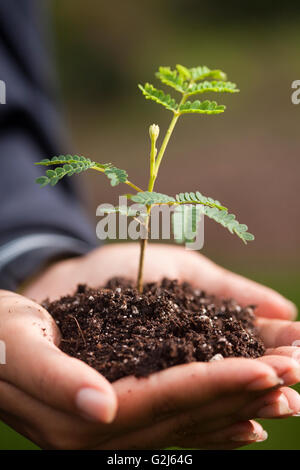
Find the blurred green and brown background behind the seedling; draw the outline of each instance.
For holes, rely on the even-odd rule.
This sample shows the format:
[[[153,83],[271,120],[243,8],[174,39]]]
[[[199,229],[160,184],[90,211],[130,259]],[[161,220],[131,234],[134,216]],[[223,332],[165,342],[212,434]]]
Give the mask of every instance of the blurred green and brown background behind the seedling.
[[[230,207],[256,241],[245,247],[208,221],[203,252],[300,305],[300,105],[290,98],[292,81],[300,79],[300,4],[56,0],[50,6],[70,151],[112,161],[139,185],[148,170],[148,126],[159,123],[163,131],[170,115],[146,102],[137,83],[154,81],[159,65],[177,63],[221,68],[238,83],[239,95],[214,97],[228,105],[223,115],[179,121],[156,189],[200,190]],[[85,183],[95,221],[97,205],[117,202],[118,188],[93,174]],[[300,419],[263,423],[269,439],[247,448],[300,449]],[[4,425],[0,436],[0,449],[34,448]]]

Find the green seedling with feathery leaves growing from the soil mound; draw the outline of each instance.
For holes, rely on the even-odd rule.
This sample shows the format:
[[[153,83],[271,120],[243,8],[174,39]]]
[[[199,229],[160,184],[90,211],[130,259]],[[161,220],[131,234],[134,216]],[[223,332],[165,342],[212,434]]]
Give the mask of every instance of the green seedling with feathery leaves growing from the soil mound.
[[[197,205],[201,207],[201,213],[223,225],[231,233],[235,233],[244,243],[254,239],[251,233],[248,233],[247,225],[240,224],[233,214],[228,213],[228,209],[220,204],[219,201],[210,197],[203,196],[199,191],[179,193],[175,197],[154,192],[154,185],[158,176],[158,171],[164,157],[167,145],[174,130],[174,127],[180,116],[185,114],[220,114],[225,111],[224,105],[219,105],[215,101],[194,100],[195,95],[203,93],[237,93],[239,90],[232,82],[226,81],[226,75],[221,70],[210,70],[208,67],[187,68],[182,65],[176,65],[175,70],[170,67],[160,67],[156,77],[164,84],[173,88],[180,94],[179,101],[164,91],[155,88],[150,83],[144,86],[139,85],[140,90],[146,99],[155,101],[164,106],[172,113],[172,120],[169,128],[157,149],[157,140],[159,137],[159,127],[156,124],[150,126],[150,175],[147,190],[139,188],[129,181],[127,172],[116,168],[111,163],[97,163],[89,158],[79,157],[77,155],[59,156],[52,159],[45,159],[36,163],[43,166],[56,166],[56,169],[49,169],[45,176],[37,178],[36,182],[42,187],[48,184],[54,186],[64,176],[82,173],[86,170],[95,170],[104,173],[112,186],[120,183],[127,184],[136,191],[135,194],[126,194],[128,200],[143,204],[146,207],[144,214],[144,224],[149,228],[149,219],[153,206],[168,204],[175,206],[176,210],[185,208],[186,205]],[[125,213],[129,217],[135,217],[136,213],[129,208],[116,207],[114,212]],[[199,213],[199,212],[198,212]],[[174,222],[174,218],[173,218]],[[182,239],[183,241],[183,239]],[[139,259],[139,270],[137,287],[140,292],[143,289],[143,268],[147,238],[141,239],[141,250]]]

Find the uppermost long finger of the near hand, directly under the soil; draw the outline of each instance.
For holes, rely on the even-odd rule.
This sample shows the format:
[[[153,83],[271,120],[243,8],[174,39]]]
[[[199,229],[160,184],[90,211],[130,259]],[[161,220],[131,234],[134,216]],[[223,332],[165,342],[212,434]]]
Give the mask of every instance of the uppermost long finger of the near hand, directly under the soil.
[[[134,419],[136,425],[145,426],[224,394],[256,393],[281,383],[267,364],[237,358],[176,366],[146,379],[128,377],[113,384],[122,403],[118,424],[125,426]]]

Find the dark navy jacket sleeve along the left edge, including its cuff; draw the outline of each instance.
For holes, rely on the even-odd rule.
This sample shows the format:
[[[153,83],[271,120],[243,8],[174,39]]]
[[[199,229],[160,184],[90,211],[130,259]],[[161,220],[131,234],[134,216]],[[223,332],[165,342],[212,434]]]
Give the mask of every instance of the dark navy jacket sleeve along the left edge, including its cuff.
[[[43,171],[34,162],[70,153],[38,11],[43,4],[0,0],[0,79],[6,86],[0,104],[0,288],[6,289],[50,258],[96,246],[73,181],[49,188],[35,183]]]

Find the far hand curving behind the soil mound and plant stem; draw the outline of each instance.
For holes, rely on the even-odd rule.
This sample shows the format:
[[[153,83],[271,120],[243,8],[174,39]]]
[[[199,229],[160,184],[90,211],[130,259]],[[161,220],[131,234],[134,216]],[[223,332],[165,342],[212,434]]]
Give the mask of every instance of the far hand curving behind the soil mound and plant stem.
[[[24,294],[40,302],[72,293],[78,283],[104,285],[114,276],[136,279],[139,245],[112,244],[88,255],[53,264],[40,274]],[[256,304],[256,314],[268,318],[295,320],[296,306],[274,290],[227,271],[195,251],[183,247],[150,244],[146,250],[144,280],[163,277],[188,281],[197,288],[220,297],[235,298],[242,305]]]

